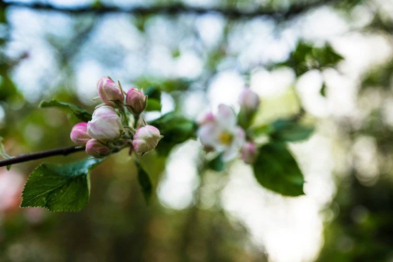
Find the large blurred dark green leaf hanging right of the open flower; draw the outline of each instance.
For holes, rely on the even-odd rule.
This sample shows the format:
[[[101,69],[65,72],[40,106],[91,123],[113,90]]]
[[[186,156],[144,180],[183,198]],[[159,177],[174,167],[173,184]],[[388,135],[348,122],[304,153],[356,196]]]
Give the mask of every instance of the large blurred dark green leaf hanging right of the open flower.
[[[284,143],[261,147],[253,168],[261,186],[284,196],[304,195],[303,174]]]

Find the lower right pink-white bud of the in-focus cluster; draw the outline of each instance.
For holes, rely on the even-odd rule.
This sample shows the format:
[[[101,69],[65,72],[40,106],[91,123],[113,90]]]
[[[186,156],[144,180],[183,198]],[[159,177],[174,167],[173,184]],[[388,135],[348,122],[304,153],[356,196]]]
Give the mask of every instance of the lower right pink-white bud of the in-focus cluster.
[[[146,153],[153,150],[162,138],[160,130],[153,125],[140,127],[134,135],[133,146],[135,152]]]

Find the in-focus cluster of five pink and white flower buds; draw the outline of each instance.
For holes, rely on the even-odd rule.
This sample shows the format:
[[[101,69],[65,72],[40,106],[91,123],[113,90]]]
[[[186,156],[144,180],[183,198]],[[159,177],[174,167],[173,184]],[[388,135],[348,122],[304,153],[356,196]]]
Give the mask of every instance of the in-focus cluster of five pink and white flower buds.
[[[125,93],[120,82],[116,84],[104,76],[98,79],[97,92],[102,104],[96,107],[92,119],[77,123],[71,130],[70,137],[76,145],[86,147],[86,153],[96,158],[106,157],[125,147],[142,155],[156,148],[163,138],[160,130],[145,120],[139,121],[148,102],[147,95],[138,88]],[[129,126],[131,115],[134,126]]]

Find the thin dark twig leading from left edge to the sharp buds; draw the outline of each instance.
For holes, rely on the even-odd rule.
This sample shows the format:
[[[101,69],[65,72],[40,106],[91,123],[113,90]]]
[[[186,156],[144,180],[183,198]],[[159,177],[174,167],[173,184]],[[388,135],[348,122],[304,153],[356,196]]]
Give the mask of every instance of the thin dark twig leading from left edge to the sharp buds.
[[[37,160],[37,159],[53,157],[53,156],[67,156],[69,154],[76,153],[83,150],[85,150],[84,147],[81,148],[78,146],[71,146],[65,148],[40,151],[35,153],[22,154],[14,158],[0,160],[0,167],[5,167],[8,165],[13,165],[13,164],[18,164],[18,163],[28,162],[31,160]]]

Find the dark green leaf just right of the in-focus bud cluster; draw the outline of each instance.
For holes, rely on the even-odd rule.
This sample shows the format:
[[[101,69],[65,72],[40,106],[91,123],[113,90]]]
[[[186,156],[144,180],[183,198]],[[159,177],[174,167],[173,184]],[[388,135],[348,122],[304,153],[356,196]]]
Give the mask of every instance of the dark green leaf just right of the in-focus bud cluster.
[[[176,112],[169,112],[150,122],[160,130],[164,136],[158,143],[156,151],[161,156],[166,156],[177,144],[195,138],[197,124],[195,121]]]

